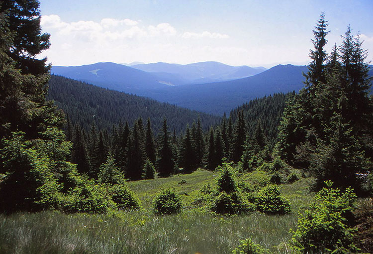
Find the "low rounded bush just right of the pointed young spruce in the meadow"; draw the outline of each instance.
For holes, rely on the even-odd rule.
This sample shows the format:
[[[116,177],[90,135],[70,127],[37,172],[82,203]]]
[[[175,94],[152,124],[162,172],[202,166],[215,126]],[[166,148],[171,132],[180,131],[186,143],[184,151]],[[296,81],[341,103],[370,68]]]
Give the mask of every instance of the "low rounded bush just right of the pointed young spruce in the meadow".
[[[267,185],[256,197],[255,205],[258,211],[266,214],[290,213],[289,202],[280,196],[277,185]]]

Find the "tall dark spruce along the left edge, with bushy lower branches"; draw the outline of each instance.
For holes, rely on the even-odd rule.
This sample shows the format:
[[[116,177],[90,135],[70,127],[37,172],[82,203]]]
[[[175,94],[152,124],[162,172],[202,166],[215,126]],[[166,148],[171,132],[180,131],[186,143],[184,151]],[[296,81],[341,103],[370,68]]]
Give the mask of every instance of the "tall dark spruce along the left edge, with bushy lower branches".
[[[64,115],[46,101],[49,47],[37,0],[0,2],[0,211],[59,208],[74,185]]]

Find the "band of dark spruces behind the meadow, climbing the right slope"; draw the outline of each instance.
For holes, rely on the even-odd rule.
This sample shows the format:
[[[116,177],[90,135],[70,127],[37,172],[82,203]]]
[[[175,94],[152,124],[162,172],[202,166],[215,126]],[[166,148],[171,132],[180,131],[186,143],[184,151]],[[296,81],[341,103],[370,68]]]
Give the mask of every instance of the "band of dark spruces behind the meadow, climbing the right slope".
[[[203,129],[200,118],[191,126],[187,124],[180,134],[175,129],[170,131],[168,119],[164,118],[157,135],[150,118],[146,122],[138,118],[133,124],[120,123],[112,126],[111,131],[95,125],[86,131],[68,121],[66,134],[73,142],[71,161],[77,164],[80,173],[95,179],[100,166],[110,156],[131,180],[148,177],[149,163],[161,176],[180,170],[190,172],[198,167],[213,170],[223,158],[240,161],[245,144],[246,150],[273,147],[285,98],[291,96],[276,94],[250,101],[232,110],[228,119],[224,116],[220,125],[211,126],[209,131]]]

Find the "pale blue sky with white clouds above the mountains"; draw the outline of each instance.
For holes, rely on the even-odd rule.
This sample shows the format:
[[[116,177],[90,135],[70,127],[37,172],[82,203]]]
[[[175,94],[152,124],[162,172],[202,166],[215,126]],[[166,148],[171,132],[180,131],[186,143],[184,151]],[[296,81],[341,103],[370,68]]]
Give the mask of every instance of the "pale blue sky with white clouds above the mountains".
[[[351,24],[373,60],[373,0],[40,0],[40,10],[51,35],[40,56],[53,65],[305,65],[322,11],[327,51]]]

